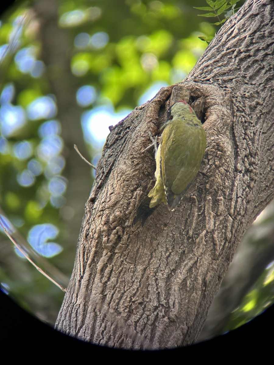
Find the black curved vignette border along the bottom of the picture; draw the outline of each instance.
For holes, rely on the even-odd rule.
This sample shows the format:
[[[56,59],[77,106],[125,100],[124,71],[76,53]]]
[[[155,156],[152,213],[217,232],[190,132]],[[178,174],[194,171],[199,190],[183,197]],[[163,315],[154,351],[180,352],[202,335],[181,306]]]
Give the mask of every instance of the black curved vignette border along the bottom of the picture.
[[[172,358],[175,360],[178,356],[184,361],[187,359],[204,361],[208,358],[214,364],[214,358],[218,359],[218,363],[222,361],[220,355],[225,356],[225,360],[228,361],[229,358],[239,359],[239,355],[244,356],[247,360],[258,353],[260,359],[263,360],[267,359],[267,356],[273,351],[271,329],[274,325],[274,306],[269,307],[265,312],[236,330],[209,341],[170,350],[130,351],[92,345],[61,334],[25,312],[2,291],[0,291],[0,303],[2,356],[4,349],[11,349],[7,351],[10,358],[14,356],[34,358],[37,353],[43,361],[46,361],[47,358],[52,361],[59,356],[65,360],[67,354],[71,357],[74,352],[75,356],[92,357],[96,354],[104,356],[104,358],[111,356],[112,359],[115,356],[117,358],[122,356],[125,360],[132,360],[133,356],[134,359],[144,358],[146,360],[160,360],[168,357],[169,361]]]

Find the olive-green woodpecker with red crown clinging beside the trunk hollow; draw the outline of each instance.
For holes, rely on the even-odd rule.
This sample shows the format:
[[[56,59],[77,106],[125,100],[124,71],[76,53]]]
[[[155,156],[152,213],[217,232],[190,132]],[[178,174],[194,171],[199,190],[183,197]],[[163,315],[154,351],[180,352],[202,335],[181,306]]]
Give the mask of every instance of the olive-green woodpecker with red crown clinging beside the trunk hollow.
[[[152,214],[157,205],[167,202],[173,211],[189,189],[201,165],[206,134],[195,112],[185,101],[178,101],[167,111],[167,120],[156,153],[156,183],[137,210],[134,224]]]

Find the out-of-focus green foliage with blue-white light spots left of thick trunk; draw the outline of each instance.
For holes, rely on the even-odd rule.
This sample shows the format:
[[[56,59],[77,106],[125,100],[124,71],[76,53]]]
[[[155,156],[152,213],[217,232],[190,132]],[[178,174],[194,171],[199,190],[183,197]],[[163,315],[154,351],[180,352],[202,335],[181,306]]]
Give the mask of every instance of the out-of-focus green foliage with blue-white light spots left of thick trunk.
[[[63,57],[70,60],[67,72],[75,89],[71,104],[81,116],[75,125],[83,128],[83,142],[96,165],[107,127],[151,99],[160,87],[182,81],[207,46],[201,39],[214,37],[229,15],[224,12],[228,6],[233,12],[237,1],[207,2],[214,9],[212,19],[206,15],[209,22],[201,21],[193,8],[206,10],[205,0],[60,0],[57,29],[65,32],[68,47],[65,54],[54,55],[55,64],[43,54],[43,27],[34,1],[16,1],[16,7],[3,15],[0,214],[2,220],[7,217],[7,228],[10,220],[34,250],[67,275],[72,271],[76,247],[68,248],[66,235],[73,216],[68,204],[68,184],[73,184],[73,176],[67,174],[66,117],[59,98],[66,94],[67,86],[61,83],[59,95],[52,90],[52,80],[61,72],[59,63]],[[213,26],[210,22],[216,12],[223,18]],[[54,37],[50,41],[53,44]],[[2,289],[53,324],[63,293],[21,255],[8,250],[11,243],[7,241],[2,234]]]

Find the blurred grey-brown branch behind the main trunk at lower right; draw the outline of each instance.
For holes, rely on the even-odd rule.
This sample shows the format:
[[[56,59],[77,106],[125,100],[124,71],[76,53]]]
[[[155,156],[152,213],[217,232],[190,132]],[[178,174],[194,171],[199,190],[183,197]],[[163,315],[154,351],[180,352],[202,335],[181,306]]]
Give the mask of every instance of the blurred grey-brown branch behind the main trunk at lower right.
[[[274,200],[255,220],[237,247],[229,269],[214,297],[198,342],[225,332],[229,319],[256,280],[274,260]],[[256,288],[256,285],[255,285]]]

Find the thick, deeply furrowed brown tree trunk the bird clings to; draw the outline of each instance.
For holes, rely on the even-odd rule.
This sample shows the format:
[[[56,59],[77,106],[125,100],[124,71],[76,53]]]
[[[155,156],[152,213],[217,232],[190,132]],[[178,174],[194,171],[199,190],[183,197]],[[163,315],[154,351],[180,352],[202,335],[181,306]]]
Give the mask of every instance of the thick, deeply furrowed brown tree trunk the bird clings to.
[[[126,349],[195,342],[244,231],[274,197],[273,19],[273,1],[247,1],[180,85],[111,131],[58,330]],[[161,204],[133,225],[154,184],[148,132],[182,99],[205,120],[200,173],[174,212]]]

